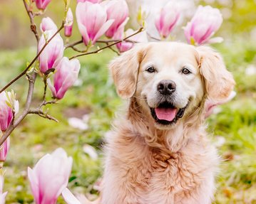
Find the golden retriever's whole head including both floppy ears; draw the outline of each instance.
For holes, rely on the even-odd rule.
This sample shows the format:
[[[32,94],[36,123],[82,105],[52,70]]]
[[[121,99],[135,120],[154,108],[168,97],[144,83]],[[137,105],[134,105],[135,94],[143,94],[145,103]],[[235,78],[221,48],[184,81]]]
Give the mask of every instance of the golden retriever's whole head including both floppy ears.
[[[135,97],[158,129],[170,129],[205,98],[225,100],[235,85],[221,56],[184,43],[136,45],[110,65],[118,95]]]

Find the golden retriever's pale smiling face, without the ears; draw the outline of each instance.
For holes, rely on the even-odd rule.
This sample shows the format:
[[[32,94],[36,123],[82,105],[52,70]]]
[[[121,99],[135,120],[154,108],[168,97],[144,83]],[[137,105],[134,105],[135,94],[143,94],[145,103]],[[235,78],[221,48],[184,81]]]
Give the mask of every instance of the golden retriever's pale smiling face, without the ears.
[[[175,43],[151,45],[140,63],[135,92],[158,126],[174,124],[203,98],[195,49]],[[163,51],[164,50],[164,51]],[[141,100],[142,99],[142,100]]]

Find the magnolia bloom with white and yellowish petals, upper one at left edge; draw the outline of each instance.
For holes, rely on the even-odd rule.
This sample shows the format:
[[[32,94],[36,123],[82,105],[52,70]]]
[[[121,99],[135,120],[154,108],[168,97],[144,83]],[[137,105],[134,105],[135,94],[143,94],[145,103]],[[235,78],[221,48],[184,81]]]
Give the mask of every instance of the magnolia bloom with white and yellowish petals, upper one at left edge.
[[[14,92],[0,93],[0,129],[6,131],[13,119],[13,111],[19,112],[19,102],[15,100]]]

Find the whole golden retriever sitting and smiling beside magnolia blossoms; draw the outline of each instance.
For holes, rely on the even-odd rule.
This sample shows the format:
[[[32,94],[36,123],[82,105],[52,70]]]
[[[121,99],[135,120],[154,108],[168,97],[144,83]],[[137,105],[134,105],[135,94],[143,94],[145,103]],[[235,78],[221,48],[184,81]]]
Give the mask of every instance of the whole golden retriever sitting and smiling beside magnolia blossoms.
[[[219,157],[205,132],[205,100],[235,82],[220,54],[185,43],[135,45],[110,64],[128,99],[106,145],[103,204],[208,204]]]

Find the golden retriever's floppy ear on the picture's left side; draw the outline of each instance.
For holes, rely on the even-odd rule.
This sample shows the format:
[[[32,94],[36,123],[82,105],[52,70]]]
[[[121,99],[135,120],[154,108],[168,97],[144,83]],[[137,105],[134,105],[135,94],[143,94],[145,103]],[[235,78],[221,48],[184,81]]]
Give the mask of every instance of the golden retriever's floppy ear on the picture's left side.
[[[112,60],[109,65],[118,95],[124,99],[132,97],[135,93],[138,69],[143,55],[143,45],[135,45],[134,48]]]

